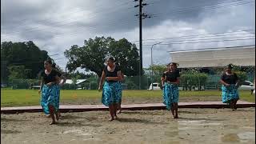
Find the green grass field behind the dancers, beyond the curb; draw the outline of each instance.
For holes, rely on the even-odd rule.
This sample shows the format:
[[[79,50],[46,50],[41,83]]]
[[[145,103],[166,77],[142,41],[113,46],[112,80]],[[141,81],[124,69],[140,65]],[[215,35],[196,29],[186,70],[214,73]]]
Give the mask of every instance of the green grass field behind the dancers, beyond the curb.
[[[240,91],[243,101],[255,102],[250,91]],[[38,90],[1,89],[1,106],[38,106],[41,95]],[[101,104],[98,90],[61,90],[61,104]],[[180,91],[180,102],[221,101],[221,91]],[[162,102],[162,91],[123,90],[122,103]]]

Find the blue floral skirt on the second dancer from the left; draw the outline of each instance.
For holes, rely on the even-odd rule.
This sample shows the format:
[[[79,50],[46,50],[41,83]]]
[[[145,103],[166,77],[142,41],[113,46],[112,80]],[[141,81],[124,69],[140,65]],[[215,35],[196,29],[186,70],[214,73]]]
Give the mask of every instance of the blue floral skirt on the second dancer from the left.
[[[110,106],[114,103],[121,102],[122,85],[121,82],[105,82],[102,89],[102,103]]]

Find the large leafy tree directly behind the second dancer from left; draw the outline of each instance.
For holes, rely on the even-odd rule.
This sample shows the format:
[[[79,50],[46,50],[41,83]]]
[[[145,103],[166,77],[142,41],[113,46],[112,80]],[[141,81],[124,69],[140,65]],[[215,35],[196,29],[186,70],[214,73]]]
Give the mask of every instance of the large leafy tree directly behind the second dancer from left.
[[[68,70],[74,71],[78,67],[93,71],[101,77],[106,58],[112,56],[120,63],[124,74],[131,76],[138,74],[138,49],[126,38],[115,41],[114,38],[96,37],[85,40],[84,46],[71,46],[65,51]]]

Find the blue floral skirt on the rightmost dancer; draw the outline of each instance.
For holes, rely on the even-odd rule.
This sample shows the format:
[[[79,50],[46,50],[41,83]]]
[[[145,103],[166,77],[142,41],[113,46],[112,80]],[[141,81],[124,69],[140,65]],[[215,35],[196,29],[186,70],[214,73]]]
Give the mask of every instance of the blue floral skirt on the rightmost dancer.
[[[222,85],[222,102],[230,103],[231,100],[238,100],[238,88],[234,84],[230,86]]]

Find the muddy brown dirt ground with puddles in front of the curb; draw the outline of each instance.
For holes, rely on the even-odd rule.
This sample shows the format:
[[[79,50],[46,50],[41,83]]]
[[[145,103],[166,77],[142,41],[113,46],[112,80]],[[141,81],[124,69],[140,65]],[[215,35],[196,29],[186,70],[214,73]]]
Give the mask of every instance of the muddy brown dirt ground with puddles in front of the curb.
[[[42,113],[1,114],[2,143],[254,143],[255,108],[124,110],[62,114],[57,125]]]

